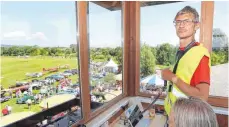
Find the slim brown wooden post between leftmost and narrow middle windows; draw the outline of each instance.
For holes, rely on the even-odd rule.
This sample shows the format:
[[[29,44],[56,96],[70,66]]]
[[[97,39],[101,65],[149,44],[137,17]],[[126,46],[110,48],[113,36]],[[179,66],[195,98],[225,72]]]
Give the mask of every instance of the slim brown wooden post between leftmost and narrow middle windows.
[[[77,2],[78,29],[79,29],[79,63],[80,87],[83,119],[87,121],[90,116],[90,89],[89,89],[89,53],[87,39],[87,2]]]

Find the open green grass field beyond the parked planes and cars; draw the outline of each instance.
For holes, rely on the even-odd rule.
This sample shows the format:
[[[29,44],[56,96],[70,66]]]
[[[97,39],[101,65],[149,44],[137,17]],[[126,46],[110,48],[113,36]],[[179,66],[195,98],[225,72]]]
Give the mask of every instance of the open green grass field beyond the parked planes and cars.
[[[26,73],[42,72],[43,68],[54,68],[69,64],[70,68],[78,68],[77,58],[52,58],[52,57],[31,57],[28,59],[17,57],[1,56],[1,85],[8,88],[15,85],[16,81],[31,81],[32,79],[44,79],[50,74],[46,73],[40,78],[28,78]],[[60,69],[63,72],[66,69]]]

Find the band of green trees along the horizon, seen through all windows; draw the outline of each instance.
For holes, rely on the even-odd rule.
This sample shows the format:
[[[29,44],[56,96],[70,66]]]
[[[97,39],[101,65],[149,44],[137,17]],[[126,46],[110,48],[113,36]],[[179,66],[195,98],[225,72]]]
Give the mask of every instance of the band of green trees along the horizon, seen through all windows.
[[[142,43],[140,49],[140,70],[141,76],[153,74],[156,65],[171,67],[175,63],[177,46],[163,43],[152,47]],[[123,62],[123,48],[90,48],[90,60],[94,62],[106,62],[112,58],[117,64]],[[12,46],[1,47],[1,56],[70,56],[77,57],[76,45],[70,47],[39,47],[39,46]],[[213,48],[211,53],[211,65],[218,65],[228,62],[228,46]]]

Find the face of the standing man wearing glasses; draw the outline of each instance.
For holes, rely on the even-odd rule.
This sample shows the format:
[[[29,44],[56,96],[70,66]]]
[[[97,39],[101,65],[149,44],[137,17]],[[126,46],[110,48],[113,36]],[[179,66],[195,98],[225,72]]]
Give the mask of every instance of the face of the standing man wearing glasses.
[[[177,16],[176,33],[180,39],[191,37],[199,29],[199,23],[194,22],[194,15],[191,13],[185,13]]]

